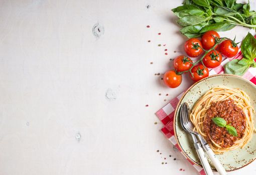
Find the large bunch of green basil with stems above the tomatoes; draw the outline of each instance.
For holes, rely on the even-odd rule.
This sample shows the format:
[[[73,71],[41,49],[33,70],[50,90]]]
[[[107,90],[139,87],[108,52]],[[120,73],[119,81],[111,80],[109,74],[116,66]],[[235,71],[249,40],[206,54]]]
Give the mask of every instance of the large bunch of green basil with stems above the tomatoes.
[[[248,3],[236,0],[184,0],[184,5],[173,8],[180,32],[187,37],[199,37],[209,30],[226,31],[242,25],[256,28],[256,12]]]

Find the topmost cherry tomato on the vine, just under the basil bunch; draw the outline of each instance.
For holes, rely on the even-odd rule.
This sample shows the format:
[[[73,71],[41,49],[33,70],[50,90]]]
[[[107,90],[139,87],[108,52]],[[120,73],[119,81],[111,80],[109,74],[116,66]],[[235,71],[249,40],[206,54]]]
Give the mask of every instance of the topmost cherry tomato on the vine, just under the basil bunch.
[[[215,37],[220,38],[219,33],[217,33],[214,30],[206,31],[202,35],[202,40],[201,40],[203,48],[206,50],[209,50],[211,47],[213,47],[213,45],[215,44]]]

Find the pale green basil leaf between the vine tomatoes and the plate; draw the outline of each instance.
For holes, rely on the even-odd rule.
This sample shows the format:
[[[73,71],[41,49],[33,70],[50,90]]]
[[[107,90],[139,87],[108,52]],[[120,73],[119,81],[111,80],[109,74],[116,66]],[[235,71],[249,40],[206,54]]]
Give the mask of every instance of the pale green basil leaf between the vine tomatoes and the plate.
[[[242,76],[249,68],[249,65],[238,64],[239,59],[233,59],[224,65],[225,73]]]

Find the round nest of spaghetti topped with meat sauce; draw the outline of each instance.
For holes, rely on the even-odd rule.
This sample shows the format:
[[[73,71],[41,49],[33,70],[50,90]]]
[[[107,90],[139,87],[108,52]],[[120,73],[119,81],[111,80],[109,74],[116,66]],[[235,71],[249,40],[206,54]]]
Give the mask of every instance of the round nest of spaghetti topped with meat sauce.
[[[223,103],[222,106],[221,102]],[[233,122],[236,129],[240,130],[238,137],[235,138],[228,134],[226,130],[224,130],[225,128],[220,128],[215,125],[211,125],[211,127],[214,126],[218,128],[214,128],[212,132],[216,132],[217,129],[222,129],[219,132],[219,137],[209,134],[209,129],[207,130],[209,125],[206,127],[207,122],[205,121],[209,120],[208,117],[212,117],[209,116],[209,113],[212,113],[212,110],[214,110],[212,106],[215,107],[216,103],[220,103],[220,106],[216,109],[218,111],[213,111],[213,113],[222,110],[222,113],[219,112],[218,114],[222,115],[223,118],[227,117],[225,115],[233,113],[232,117],[225,119],[227,120],[227,124],[228,122]],[[224,106],[225,103],[230,106]],[[253,111],[254,109],[250,104],[249,96],[244,91],[238,88],[214,87],[197,100],[191,111],[190,120],[195,125],[194,130],[197,130],[207,140],[212,150],[216,154],[219,154],[236,148],[242,148],[251,139],[254,130]],[[237,121],[231,121],[232,119],[237,119]],[[243,125],[239,125],[239,123],[243,123]],[[213,124],[213,122],[211,124]],[[227,138],[223,138],[224,135],[226,135]],[[222,138],[222,142],[219,138]],[[224,144],[223,139],[228,140],[229,144]],[[230,139],[233,139],[233,142],[231,141],[230,143]]]

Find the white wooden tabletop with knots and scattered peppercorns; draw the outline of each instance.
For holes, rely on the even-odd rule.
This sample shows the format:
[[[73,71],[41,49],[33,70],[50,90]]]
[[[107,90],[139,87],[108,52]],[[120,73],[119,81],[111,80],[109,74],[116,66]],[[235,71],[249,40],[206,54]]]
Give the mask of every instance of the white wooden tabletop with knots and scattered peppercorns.
[[[154,114],[192,83],[170,89],[154,75],[183,52],[180,4],[0,0],[0,174],[197,174]]]

